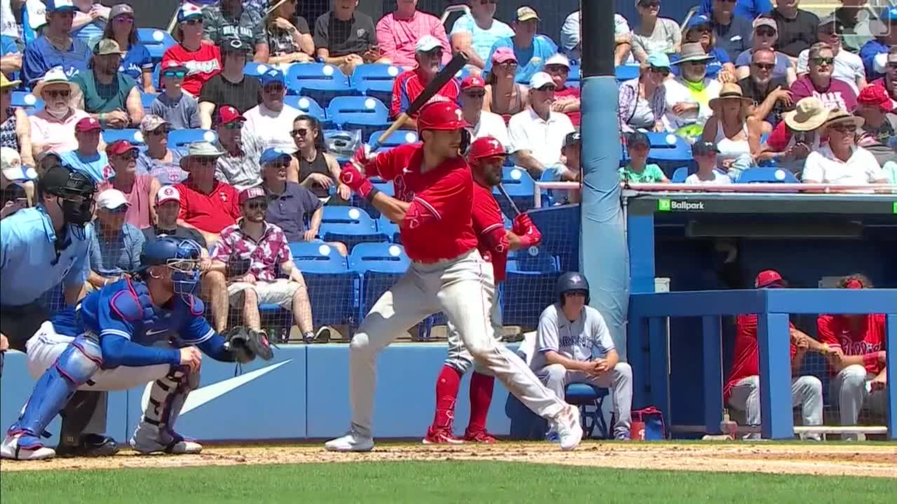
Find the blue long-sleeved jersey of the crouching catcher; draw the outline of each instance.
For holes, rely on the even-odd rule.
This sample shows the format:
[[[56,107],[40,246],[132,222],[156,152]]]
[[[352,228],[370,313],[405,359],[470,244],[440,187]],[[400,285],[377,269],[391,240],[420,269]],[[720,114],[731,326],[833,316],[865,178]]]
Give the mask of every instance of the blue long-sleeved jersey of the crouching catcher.
[[[192,295],[176,294],[165,306],[154,306],[144,282],[125,279],[91,292],[50,321],[59,335],[114,335],[144,346],[170,342],[184,347],[203,343],[215,334],[203,311],[203,301]]]

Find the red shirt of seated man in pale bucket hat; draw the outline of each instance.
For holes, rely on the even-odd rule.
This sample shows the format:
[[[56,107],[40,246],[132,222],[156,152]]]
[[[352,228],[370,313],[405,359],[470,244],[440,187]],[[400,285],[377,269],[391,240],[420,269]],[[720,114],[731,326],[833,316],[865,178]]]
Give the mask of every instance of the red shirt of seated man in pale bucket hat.
[[[237,189],[230,184],[215,180],[212,192],[205,194],[187,177],[175,188],[180,193],[180,213],[178,218],[197,230],[220,233],[239,217]]]

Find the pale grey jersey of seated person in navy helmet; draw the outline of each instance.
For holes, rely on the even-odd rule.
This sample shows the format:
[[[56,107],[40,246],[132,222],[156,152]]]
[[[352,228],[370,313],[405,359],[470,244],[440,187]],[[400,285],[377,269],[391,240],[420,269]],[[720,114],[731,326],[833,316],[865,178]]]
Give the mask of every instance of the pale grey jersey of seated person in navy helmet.
[[[597,350],[597,352],[595,352]],[[576,320],[567,320],[558,303],[545,308],[536,330],[536,355],[532,369],[545,366],[544,352],[554,351],[573,361],[588,361],[593,356],[616,350],[605,318],[597,309],[586,306]]]

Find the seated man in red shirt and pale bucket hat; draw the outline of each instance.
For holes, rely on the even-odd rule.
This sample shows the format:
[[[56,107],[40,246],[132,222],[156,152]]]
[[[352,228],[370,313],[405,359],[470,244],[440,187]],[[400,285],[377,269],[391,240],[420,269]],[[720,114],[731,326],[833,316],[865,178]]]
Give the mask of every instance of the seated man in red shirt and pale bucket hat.
[[[237,190],[215,179],[215,161],[223,153],[212,143],[191,143],[180,159],[180,167],[189,175],[175,186],[180,194],[178,223],[202,233],[209,247],[218,240],[218,233],[239,217]]]

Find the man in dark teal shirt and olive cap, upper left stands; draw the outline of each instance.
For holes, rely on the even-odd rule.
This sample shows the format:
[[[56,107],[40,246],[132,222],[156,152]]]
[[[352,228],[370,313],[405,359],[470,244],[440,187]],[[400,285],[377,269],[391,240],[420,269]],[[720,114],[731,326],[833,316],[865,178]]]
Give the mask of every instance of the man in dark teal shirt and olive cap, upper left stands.
[[[74,76],[78,85],[73,102],[104,128],[122,129],[137,126],[144,120],[144,104],[137,83],[118,72],[123,56],[118,42],[102,39],[93,49],[91,69]]]

